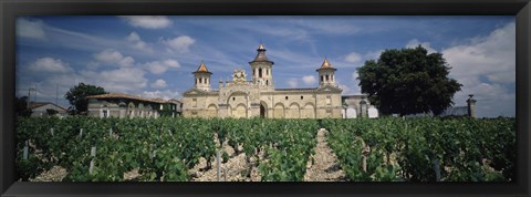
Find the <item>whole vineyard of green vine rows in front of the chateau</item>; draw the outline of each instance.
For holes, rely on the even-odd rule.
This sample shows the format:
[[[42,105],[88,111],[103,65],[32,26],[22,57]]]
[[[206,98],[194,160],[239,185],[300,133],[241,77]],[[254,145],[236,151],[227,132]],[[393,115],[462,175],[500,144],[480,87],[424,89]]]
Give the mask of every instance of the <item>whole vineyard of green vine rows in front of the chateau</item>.
[[[17,172],[21,180],[56,166],[63,182],[190,182],[209,172],[227,180],[241,158],[237,180],[303,182],[320,162],[319,137],[350,182],[514,179],[514,118],[20,117]]]

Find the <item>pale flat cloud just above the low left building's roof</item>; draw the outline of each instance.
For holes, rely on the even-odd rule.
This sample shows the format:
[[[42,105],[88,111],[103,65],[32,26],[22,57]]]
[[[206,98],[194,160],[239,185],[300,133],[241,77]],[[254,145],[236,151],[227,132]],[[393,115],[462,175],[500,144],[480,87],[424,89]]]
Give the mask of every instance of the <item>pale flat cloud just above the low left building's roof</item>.
[[[136,68],[119,68],[102,72],[81,71],[83,80],[105,89],[107,92],[131,93],[147,86],[145,71]]]

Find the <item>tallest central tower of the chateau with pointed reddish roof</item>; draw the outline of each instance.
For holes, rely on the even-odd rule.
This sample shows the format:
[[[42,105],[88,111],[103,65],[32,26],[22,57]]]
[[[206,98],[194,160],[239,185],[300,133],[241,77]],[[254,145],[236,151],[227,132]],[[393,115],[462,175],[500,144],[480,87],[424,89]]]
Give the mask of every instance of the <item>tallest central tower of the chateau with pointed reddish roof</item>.
[[[263,44],[257,49],[257,56],[252,62],[249,62],[252,70],[252,81],[256,84],[264,85],[268,87],[273,87],[273,64],[274,62],[270,61],[268,56],[266,56],[266,48]]]

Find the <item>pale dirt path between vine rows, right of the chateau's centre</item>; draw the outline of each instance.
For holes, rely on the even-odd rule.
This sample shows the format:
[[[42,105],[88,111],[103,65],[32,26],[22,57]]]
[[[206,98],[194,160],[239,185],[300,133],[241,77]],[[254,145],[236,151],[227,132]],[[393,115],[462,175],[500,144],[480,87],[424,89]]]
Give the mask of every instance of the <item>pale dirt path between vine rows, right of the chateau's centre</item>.
[[[315,155],[309,159],[304,182],[345,182],[345,173],[341,169],[332,148],[326,142],[327,131],[324,128],[317,132],[317,146],[315,147]]]

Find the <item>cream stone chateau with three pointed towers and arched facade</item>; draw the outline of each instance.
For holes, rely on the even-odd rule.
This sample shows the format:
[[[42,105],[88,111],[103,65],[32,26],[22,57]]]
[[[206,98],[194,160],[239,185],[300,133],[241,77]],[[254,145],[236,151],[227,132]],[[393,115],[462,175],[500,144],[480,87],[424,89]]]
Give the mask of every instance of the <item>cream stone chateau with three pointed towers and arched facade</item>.
[[[184,117],[264,117],[264,118],[341,118],[342,90],[335,83],[335,68],[324,60],[319,74],[319,86],[313,89],[275,89],[273,64],[266,55],[263,44],[249,62],[250,80],[243,70],[235,70],[232,81],[219,81],[211,87],[205,62],[196,72],[195,85],[183,97]]]

